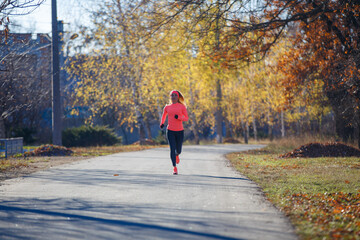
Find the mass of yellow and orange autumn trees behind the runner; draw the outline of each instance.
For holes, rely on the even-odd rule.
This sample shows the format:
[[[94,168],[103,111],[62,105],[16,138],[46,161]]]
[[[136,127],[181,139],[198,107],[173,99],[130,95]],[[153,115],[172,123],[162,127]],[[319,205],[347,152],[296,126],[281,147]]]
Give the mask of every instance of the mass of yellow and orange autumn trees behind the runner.
[[[219,119],[226,137],[245,142],[260,131],[270,139],[307,131],[358,139],[357,1],[249,4],[100,4],[94,28],[82,33],[92,50],[67,69],[79,80],[74,105],[89,107],[88,123],[136,127],[144,140],[176,88],[195,139],[219,132]],[[323,127],[331,114],[333,125]]]

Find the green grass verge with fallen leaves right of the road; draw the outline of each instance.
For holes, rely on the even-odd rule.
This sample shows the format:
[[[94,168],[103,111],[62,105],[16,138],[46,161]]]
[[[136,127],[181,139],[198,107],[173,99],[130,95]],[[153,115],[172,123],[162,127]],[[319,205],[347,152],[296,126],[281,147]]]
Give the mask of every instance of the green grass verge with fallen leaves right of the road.
[[[284,141],[227,158],[259,184],[301,239],[360,239],[360,158],[278,157],[294,145]]]

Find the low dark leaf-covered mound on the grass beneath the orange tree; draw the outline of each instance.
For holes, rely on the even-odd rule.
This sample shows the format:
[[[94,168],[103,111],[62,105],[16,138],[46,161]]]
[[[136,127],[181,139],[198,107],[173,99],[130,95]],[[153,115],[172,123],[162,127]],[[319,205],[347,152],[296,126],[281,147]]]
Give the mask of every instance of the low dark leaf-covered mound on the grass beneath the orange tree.
[[[343,143],[309,143],[292,152],[280,155],[280,157],[360,157],[360,150]]]

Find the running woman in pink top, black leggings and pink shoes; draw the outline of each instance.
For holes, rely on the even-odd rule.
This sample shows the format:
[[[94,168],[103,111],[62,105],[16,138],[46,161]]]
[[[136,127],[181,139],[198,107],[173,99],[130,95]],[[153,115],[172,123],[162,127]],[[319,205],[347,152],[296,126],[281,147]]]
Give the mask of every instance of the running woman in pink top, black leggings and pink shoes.
[[[160,128],[164,128],[166,116],[168,115],[168,127],[166,136],[170,145],[170,157],[174,166],[174,173],[178,174],[176,164],[180,163],[179,155],[181,153],[184,140],[184,127],[182,122],[189,120],[187,115],[184,97],[181,92],[173,90],[170,92],[170,103],[165,106],[161,117]]]

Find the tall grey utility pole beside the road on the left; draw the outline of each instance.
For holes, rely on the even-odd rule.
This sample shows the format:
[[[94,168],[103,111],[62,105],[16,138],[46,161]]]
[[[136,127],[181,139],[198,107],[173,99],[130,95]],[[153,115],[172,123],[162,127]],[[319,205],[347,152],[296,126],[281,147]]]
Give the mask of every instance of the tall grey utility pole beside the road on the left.
[[[52,18],[52,140],[55,145],[62,145],[61,140],[61,102],[60,102],[60,64],[59,35],[56,0],[51,0]]]

